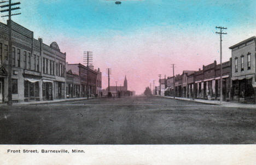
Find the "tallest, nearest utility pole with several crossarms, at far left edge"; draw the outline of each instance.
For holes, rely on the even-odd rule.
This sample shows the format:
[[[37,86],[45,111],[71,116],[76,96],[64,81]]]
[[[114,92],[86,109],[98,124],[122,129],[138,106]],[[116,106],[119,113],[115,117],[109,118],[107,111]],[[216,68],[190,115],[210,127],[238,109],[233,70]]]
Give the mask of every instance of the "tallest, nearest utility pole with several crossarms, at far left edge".
[[[12,15],[19,15],[21,13],[16,13],[16,14],[11,14],[11,10],[18,10],[20,9],[20,7],[16,7],[16,8],[11,8],[11,6],[13,5],[18,5],[20,4],[20,2],[16,2],[16,3],[11,3],[11,0],[9,1],[2,1],[1,3],[5,3],[5,2],[9,2],[8,4],[4,4],[1,5],[1,8],[8,8],[8,9],[3,9],[1,10],[1,13],[4,12],[8,12],[8,15],[3,15],[1,17],[5,17],[8,16],[8,105],[13,105],[13,90],[11,88],[11,75],[13,72],[13,58],[12,58],[12,54],[13,54],[13,44],[12,44],[12,40],[11,40],[11,32],[12,32],[12,27],[11,27],[11,16]],[[15,56],[15,55],[14,55]]]

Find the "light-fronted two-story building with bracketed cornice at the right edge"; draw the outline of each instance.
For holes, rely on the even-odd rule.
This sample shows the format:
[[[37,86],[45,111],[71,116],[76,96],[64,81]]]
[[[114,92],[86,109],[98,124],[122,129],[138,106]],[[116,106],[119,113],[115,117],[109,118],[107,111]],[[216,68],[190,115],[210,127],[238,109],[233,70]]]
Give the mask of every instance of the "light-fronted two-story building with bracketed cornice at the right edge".
[[[232,101],[255,104],[255,39],[230,46],[232,58]]]

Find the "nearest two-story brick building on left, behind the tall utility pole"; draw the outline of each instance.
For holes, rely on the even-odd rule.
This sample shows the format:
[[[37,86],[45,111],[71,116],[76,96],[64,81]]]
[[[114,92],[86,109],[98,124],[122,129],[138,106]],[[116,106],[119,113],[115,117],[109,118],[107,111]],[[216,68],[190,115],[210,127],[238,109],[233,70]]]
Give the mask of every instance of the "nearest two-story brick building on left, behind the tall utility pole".
[[[13,102],[39,101],[40,44],[33,32],[18,23],[11,22],[13,43],[12,98]],[[8,101],[8,26],[0,22],[0,102]]]

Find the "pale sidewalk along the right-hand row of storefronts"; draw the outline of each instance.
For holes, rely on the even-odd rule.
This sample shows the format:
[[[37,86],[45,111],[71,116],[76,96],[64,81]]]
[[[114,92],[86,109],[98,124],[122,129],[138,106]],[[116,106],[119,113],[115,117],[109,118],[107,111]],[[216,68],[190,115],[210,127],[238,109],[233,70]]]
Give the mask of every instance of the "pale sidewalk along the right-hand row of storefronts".
[[[165,98],[171,98],[172,96],[159,96],[159,97],[165,97]],[[222,102],[220,104],[219,101],[209,101],[204,99],[191,99],[191,98],[183,98],[183,97],[175,97],[175,99],[184,100],[184,101],[191,101],[191,102],[199,102],[199,103],[206,103],[206,104],[214,104],[214,105],[221,105],[224,107],[232,107],[232,108],[249,108],[249,109],[256,109],[255,104],[242,104],[242,103],[232,103],[232,102]]]

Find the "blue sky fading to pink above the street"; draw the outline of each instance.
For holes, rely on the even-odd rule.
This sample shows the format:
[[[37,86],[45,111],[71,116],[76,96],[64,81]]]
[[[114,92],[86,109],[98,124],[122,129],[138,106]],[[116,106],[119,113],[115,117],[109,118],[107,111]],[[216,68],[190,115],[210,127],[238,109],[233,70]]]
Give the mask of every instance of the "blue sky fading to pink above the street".
[[[15,1],[14,1],[15,2]],[[229,46],[256,32],[256,1],[238,0],[21,0],[21,15],[13,20],[50,44],[56,41],[67,62],[83,63],[83,51],[94,52],[94,66],[112,68],[110,85],[127,76],[129,90],[142,93],[158,74],[172,76],[219,63],[216,26],[228,27],[223,37],[223,61]],[[1,19],[5,22],[5,19]]]

